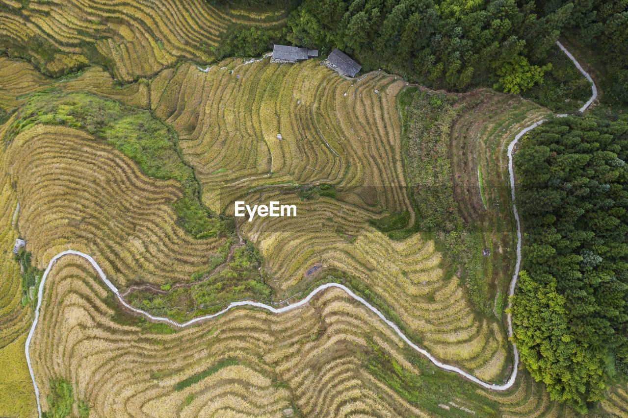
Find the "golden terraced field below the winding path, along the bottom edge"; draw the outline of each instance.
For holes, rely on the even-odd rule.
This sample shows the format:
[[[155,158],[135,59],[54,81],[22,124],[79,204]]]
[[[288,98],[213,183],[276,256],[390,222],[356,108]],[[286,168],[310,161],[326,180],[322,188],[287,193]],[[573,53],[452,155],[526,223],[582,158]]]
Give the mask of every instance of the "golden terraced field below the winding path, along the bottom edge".
[[[292,311],[282,315],[252,310],[247,314],[244,314],[247,312],[244,310],[229,311],[215,321],[188,328],[189,332],[179,334],[183,338],[179,342],[185,343],[189,348],[186,355],[195,353],[190,358],[185,356],[186,360],[183,361],[180,356],[175,355],[175,362],[171,362],[169,360],[172,360],[173,355],[170,355],[168,360],[162,360],[161,355],[167,356],[170,350],[180,351],[180,345],[173,341],[173,336],[145,333],[142,328],[130,324],[124,313],[111,304],[109,289],[102,286],[100,279],[92,277],[94,272],[89,272],[92,267],[82,257],[66,255],[51,268],[49,277],[60,282],[50,286],[50,281],[46,281],[48,296],[43,300],[45,304],[55,303],[60,309],[46,309],[48,314],[40,318],[41,321],[53,325],[47,328],[50,331],[41,331],[41,326],[36,328],[40,331],[35,333],[31,347],[38,346],[31,350],[31,358],[39,356],[40,363],[52,365],[46,370],[36,370],[36,373],[45,375],[42,379],[62,376],[68,382],[75,382],[74,390],[79,399],[89,399],[93,405],[96,398],[100,407],[105,399],[113,397],[111,403],[116,406],[109,407],[104,412],[97,409],[94,412],[97,415],[144,413],[197,416],[212,413],[240,415],[241,412],[242,415],[250,416],[251,410],[254,410],[259,415],[279,416],[278,408],[268,404],[268,398],[271,398],[278,400],[281,405],[279,408],[286,406],[281,409],[283,416],[291,415],[295,409],[313,416],[337,416],[355,412],[369,415],[383,413],[388,416],[430,416],[396,397],[381,382],[356,373],[364,368],[367,360],[365,353],[369,353],[374,345],[377,346],[376,351],[380,358],[393,362],[399,376],[423,376],[421,379],[436,383],[439,387],[447,385],[447,380],[452,378],[452,375],[438,369],[433,370],[433,367],[432,370],[429,367],[426,369],[425,361],[421,358],[410,356],[411,361],[408,362],[408,351],[404,350],[403,341],[398,340],[396,334],[390,333],[387,326],[378,326],[379,321],[374,320],[371,311],[364,309],[364,306],[359,304],[351,308],[353,301],[347,304],[344,292],[335,289],[319,294],[303,308],[296,309],[297,315],[293,315]],[[105,299],[104,303],[102,299]],[[234,326],[230,315],[240,312],[242,314],[237,318],[231,318],[238,323]],[[287,323],[278,319],[285,319]],[[122,323],[119,322],[121,320]],[[271,322],[268,323],[268,320]],[[208,328],[212,324],[214,327]],[[247,330],[242,330],[242,326]],[[263,332],[259,331],[262,327]],[[102,332],[103,329],[106,332]],[[114,343],[109,342],[112,339],[115,340]],[[102,346],[102,340],[108,341],[106,347]],[[198,340],[205,343],[197,347]],[[39,344],[45,346],[41,347]],[[70,354],[59,348],[68,344],[73,347]],[[234,347],[225,353],[225,345]],[[217,350],[217,346],[220,346],[220,350]],[[112,351],[122,353],[116,356]],[[145,355],[147,352],[150,353],[149,356]],[[207,353],[210,358],[205,358]],[[351,356],[350,360],[345,360],[344,356],[347,354]],[[103,356],[107,365],[102,363]],[[322,357],[320,363],[319,357]],[[57,360],[50,361],[50,358]],[[183,367],[180,367],[181,361]],[[308,362],[308,366],[303,367],[305,362]],[[292,370],[295,364],[298,370]],[[315,371],[312,370],[313,364],[317,368]],[[144,368],[148,370],[138,373],[138,370]],[[67,370],[77,372],[68,373]],[[435,371],[440,376],[433,376]],[[132,382],[131,387],[114,384],[111,373],[127,378]],[[145,377],[146,374],[148,378]],[[295,374],[298,376],[295,377]],[[311,381],[312,374],[317,383]],[[92,382],[97,379],[107,380],[106,395],[101,396],[100,391],[90,392]],[[574,416],[570,410],[549,402],[547,395],[537,389],[534,383],[530,388],[528,379],[525,372],[519,374],[514,387],[501,395],[477,390],[479,396],[475,396],[473,383],[470,382],[466,384],[466,388],[454,387],[451,392],[441,388],[436,390],[442,392],[436,397],[440,403],[432,403],[428,410],[435,412],[436,409],[437,416],[461,416],[461,412],[475,415],[481,411],[491,412],[493,415],[498,410],[504,412],[502,416]],[[82,385],[82,380],[89,383]],[[199,386],[201,380],[205,383]],[[216,380],[219,382],[215,383]],[[138,387],[135,387],[136,382]],[[215,389],[214,384],[220,388]],[[253,384],[256,385],[255,390],[252,389]],[[333,395],[335,385],[340,387],[338,395]],[[365,387],[354,389],[356,385]],[[259,387],[262,389],[258,390]],[[279,389],[289,391],[287,394],[285,391],[278,394]],[[371,390],[378,394],[381,402],[392,404],[370,402]],[[330,391],[333,402],[325,400]],[[43,393],[46,392],[44,388]],[[178,395],[177,392],[183,393]],[[321,392],[323,399],[318,395]],[[181,397],[186,394],[181,402]],[[258,402],[252,395],[261,395],[267,401]],[[147,399],[151,396],[155,398]],[[116,402],[119,399],[123,399],[125,404]],[[313,405],[310,405],[310,400]],[[203,404],[210,401],[211,405]],[[192,409],[193,405],[195,409]],[[45,404],[43,406],[46,408]],[[135,410],[138,408],[141,410]]]

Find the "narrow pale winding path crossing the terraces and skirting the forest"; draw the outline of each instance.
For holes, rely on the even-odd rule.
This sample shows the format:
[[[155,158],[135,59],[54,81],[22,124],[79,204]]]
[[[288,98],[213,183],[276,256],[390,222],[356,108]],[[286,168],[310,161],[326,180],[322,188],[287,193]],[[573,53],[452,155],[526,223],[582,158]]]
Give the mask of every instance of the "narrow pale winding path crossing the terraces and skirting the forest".
[[[591,78],[591,76],[588,75],[588,73],[585,72],[585,70],[583,70],[582,67],[580,67],[580,64],[573,57],[573,55],[571,55],[571,53],[569,53],[565,49],[565,47],[563,45],[561,45],[560,42],[556,41],[556,45],[558,45],[560,47],[560,49],[565,52],[565,54],[575,64],[575,66],[578,68],[578,70],[580,70],[580,72],[591,83],[591,90],[592,90],[591,98],[588,100],[588,102],[585,105],[583,105],[579,109],[580,112],[583,112],[584,110],[587,109],[587,107],[590,104],[592,104],[593,100],[595,100],[597,98],[597,87],[595,87],[595,83],[593,82],[593,79]],[[565,117],[565,116],[566,116],[566,114],[556,115],[556,117]],[[543,119],[542,121],[534,122],[534,124],[531,124],[530,126],[525,127],[524,129],[519,131],[519,133],[514,137],[514,139],[512,140],[512,142],[508,146],[508,171],[509,171],[509,174],[510,174],[510,185],[511,185],[511,196],[512,196],[512,213],[513,213],[514,218],[515,218],[515,220],[517,222],[517,251],[516,251],[517,252],[517,261],[516,261],[516,264],[515,264],[514,275],[512,276],[512,281],[511,281],[511,284],[509,286],[509,292],[508,292],[509,296],[514,295],[514,289],[515,289],[515,286],[517,284],[517,276],[519,276],[519,269],[521,267],[521,222],[519,222],[519,212],[517,212],[517,206],[514,204],[514,201],[515,201],[514,186],[515,186],[515,184],[514,184],[514,165],[512,163],[512,153],[514,151],[514,147],[516,146],[517,142],[519,142],[519,139],[521,139],[522,136],[524,136],[526,133],[528,133],[529,131],[531,131],[535,127],[538,127],[539,125],[541,125],[546,120],[547,119]],[[102,271],[102,269],[100,268],[100,265],[98,265],[96,260],[94,260],[94,258],[91,255],[85,254],[84,252],[80,252],[80,251],[76,251],[76,250],[65,250],[65,251],[62,251],[59,254],[55,255],[54,257],[52,257],[52,259],[48,263],[48,268],[46,268],[46,271],[44,272],[43,276],[41,277],[41,283],[40,283],[40,286],[39,286],[39,291],[37,292],[37,306],[35,308],[35,320],[33,321],[33,325],[31,326],[31,330],[29,331],[28,337],[26,338],[26,343],[24,344],[24,351],[26,353],[26,363],[28,364],[28,371],[31,374],[31,380],[33,380],[33,387],[35,387],[35,397],[36,397],[36,400],[37,400],[37,410],[39,412],[40,418],[41,418],[40,393],[39,393],[39,388],[37,386],[37,383],[35,382],[35,373],[33,372],[33,366],[31,365],[31,358],[30,358],[30,354],[29,354],[29,348],[30,348],[31,339],[33,338],[33,334],[35,333],[35,328],[36,328],[37,323],[39,321],[41,300],[43,299],[43,289],[44,289],[44,285],[45,285],[46,279],[48,278],[48,274],[50,273],[50,270],[52,269],[53,265],[55,265],[55,263],[57,262],[58,259],[60,259],[61,257],[65,256],[65,255],[78,255],[80,257],[83,257],[85,260],[89,261],[90,264],[92,265],[92,267],[94,267],[95,271],[100,276],[100,279],[107,285],[107,287],[109,287],[109,289],[117,296],[117,298],[120,301],[120,303],[122,305],[124,305],[127,309],[131,309],[131,311],[134,311],[134,312],[136,312],[138,314],[141,314],[144,317],[146,317],[148,319],[151,319],[152,321],[168,323],[168,324],[171,324],[171,325],[176,326],[178,328],[183,328],[185,326],[192,325],[192,324],[198,323],[200,321],[205,321],[207,319],[216,318],[217,316],[220,316],[220,315],[226,313],[227,311],[229,311],[229,309],[237,308],[238,306],[254,306],[256,308],[266,309],[267,311],[270,311],[270,312],[272,312],[274,314],[281,314],[281,313],[284,313],[284,312],[291,311],[293,309],[301,308],[302,306],[304,306],[305,304],[310,302],[310,300],[314,296],[316,296],[319,292],[322,292],[325,289],[328,289],[330,287],[337,287],[338,289],[342,289],[343,291],[345,291],[355,301],[358,301],[359,303],[363,304],[366,308],[368,308],[370,311],[372,311],[372,313],[376,314],[382,321],[384,321],[384,323],[386,323],[390,328],[392,328],[393,331],[395,331],[395,333],[402,340],[406,341],[406,343],[408,343],[408,345],[411,346],[418,353],[421,353],[422,355],[426,356],[430,360],[430,362],[432,362],[432,363],[434,363],[434,365],[436,365],[436,367],[439,367],[439,368],[441,368],[443,370],[447,370],[448,372],[458,373],[462,377],[465,377],[468,380],[471,380],[472,382],[477,383],[478,385],[484,387],[485,389],[492,389],[492,390],[507,390],[507,389],[510,389],[512,387],[512,385],[514,384],[516,378],[517,378],[517,373],[519,372],[519,351],[517,350],[517,346],[516,346],[515,343],[512,343],[512,350],[514,352],[514,367],[512,369],[512,373],[511,373],[510,377],[508,378],[508,380],[506,381],[506,383],[502,383],[501,385],[484,382],[483,380],[480,380],[479,378],[475,377],[474,375],[471,375],[470,373],[467,373],[467,372],[465,372],[464,370],[462,370],[462,369],[460,369],[458,367],[455,367],[455,366],[452,366],[452,365],[448,365],[448,364],[445,364],[445,363],[441,363],[441,362],[439,362],[435,358],[435,356],[431,355],[428,351],[426,351],[425,349],[423,349],[420,346],[418,346],[415,343],[413,343],[413,341],[411,341],[408,338],[408,336],[406,336],[399,329],[399,326],[397,326],[397,324],[395,324],[393,321],[390,321],[389,319],[387,319],[386,316],[384,316],[384,314],[381,313],[381,311],[379,311],[377,308],[375,308],[370,303],[368,303],[364,298],[362,298],[362,297],[358,296],[357,294],[355,294],[351,289],[349,289],[349,287],[344,286],[343,284],[340,284],[340,283],[333,283],[332,282],[332,283],[322,284],[321,286],[318,286],[316,289],[311,291],[310,294],[308,294],[308,296],[305,297],[305,299],[301,299],[300,301],[298,301],[298,302],[296,302],[294,304],[288,305],[288,306],[284,306],[283,308],[274,308],[273,306],[270,306],[268,304],[264,304],[264,303],[261,303],[261,302],[236,301],[236,302],[229,303],[227,308],[222,309],[222,311],[220,311],[218,313],[211,314],[211,315],[199,316],[198,318],[190,319],[190,321],[187,321],[185,323],[178,323],[176,321],[173,321],[170,318],[165,318],[163,316],[153,316],[153,315],[149,314],[148,312],[143,311],[142,309],[135,308],[134,306],[131,306],[130,304],[126,303],[126,301],[124,301],[124,299],[122,298],[120,292],[118,291],[117,287],[114,286],[114,284],[111,281],[109,281],[109,279],[107,279],[107,276],[105,275],[104,271]],[[510,304],[508,304],[508,306],[510,306]],[[508,336],[510,338],[512,336],[512,316],[511,316],[510,313],[507,314],[507,323],[508,323]]]

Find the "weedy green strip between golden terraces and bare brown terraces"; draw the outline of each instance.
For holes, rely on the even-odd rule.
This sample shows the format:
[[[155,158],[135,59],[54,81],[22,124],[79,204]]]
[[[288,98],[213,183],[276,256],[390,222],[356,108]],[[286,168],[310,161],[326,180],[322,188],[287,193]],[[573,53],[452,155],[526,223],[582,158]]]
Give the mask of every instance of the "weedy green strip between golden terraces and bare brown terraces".
[[[418,88],[406,88],[398,100],[404,124],[403,154],[418,228],[430,233],[445,250],[449,274],[458,269],[470,299],[490,314],[493,307],[484,279],[482,233],[464,222],[453,195],[450,129],[462,108],[456,105],[454,95],[431,95]]]

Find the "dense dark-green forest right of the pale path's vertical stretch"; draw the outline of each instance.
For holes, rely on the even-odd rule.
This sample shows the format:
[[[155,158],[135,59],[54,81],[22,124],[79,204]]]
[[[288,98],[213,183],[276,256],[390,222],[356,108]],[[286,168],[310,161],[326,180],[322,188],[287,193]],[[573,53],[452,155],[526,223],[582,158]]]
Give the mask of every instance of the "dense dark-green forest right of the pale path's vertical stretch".
[[[628,118],[588,115],[533,129],[514,160],[515,342],[553,399],[581,412],[628,376],[627,159]]]

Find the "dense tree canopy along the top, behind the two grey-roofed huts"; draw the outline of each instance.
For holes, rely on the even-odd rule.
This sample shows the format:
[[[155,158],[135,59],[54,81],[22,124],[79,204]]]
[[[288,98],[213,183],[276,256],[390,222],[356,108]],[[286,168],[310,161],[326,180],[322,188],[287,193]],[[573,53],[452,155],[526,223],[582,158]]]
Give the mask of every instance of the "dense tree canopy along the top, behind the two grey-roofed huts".
[[[518,92],[543,77],[571,9],[543,17],[534,3],[515,0],[305,0],[288,20],[288,40],[337,46],[367,70],[383,67],[424,84],[495,83]]]

